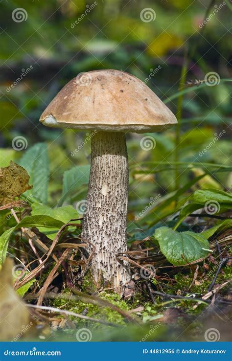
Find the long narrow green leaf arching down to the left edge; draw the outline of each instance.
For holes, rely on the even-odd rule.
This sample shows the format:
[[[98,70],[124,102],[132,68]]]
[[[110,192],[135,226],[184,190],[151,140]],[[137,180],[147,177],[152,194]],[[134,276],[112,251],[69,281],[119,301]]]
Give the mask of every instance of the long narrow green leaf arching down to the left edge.
[[[6,251],[8,248],[9,240],[12,233],[20,228],[20,227],[46,227],[50,229],[57,229],[61,228],[64,225],[63,222],[58,221],[49,216],[32,216],[32,217],[25,217],[22,221],[17,224],[16,226],[7,229],[1,236],[0,236],[0,265],[4,262],[6,257]]]

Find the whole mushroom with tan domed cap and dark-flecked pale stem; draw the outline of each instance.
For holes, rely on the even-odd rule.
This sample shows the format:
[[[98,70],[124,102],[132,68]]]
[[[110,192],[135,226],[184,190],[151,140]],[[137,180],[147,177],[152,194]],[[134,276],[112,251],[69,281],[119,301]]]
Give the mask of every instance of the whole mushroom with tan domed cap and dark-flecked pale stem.
[[[95,131],[82,237],[95,247],[90,267],[96,285],[119,289],[130,281],[129,265],[118,256],[127,251],[125,134],[162,132],[177,123],[176,117],[141,80],[108,69],[72,79],[40,121],[49,127]]]

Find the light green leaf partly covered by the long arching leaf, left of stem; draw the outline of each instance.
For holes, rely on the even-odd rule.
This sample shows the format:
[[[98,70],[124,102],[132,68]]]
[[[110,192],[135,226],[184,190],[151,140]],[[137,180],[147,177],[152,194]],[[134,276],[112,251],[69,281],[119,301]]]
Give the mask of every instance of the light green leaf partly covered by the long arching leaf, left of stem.
[[[58,208],[50,208],[47,205],[33,203],[32,204],[32,216],[36,215],[46,215],[50,216],[58,221],[62,221],[64,224],[68,223],[71,219],[78,218],[77,211],[73,208],[72,205],[65,205]],[[59,228],[54,227],[53,229],[48,227],[38,227],[39,231],[46,234],[49,239],[54,239],[55,235]]]

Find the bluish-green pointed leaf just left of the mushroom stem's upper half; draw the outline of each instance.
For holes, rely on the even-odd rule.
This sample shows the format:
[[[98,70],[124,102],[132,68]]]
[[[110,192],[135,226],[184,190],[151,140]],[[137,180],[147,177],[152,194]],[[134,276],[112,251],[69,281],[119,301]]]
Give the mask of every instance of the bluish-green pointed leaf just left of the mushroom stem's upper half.
[[[76,194],[77,190],[80,190],[81,185],[88,184],[90,176],[90,165],[79,165],[73,167],[64,173],[63,178],[63,191],[61,199],[58,205],[62,205],[64,202],[70,201]]]

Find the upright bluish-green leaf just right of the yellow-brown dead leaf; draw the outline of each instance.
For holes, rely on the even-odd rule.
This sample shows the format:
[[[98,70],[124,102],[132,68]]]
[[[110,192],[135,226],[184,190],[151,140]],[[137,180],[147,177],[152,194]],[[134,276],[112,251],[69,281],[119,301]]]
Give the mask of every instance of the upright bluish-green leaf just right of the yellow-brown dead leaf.
[[[30,184],[33,185],[32,195],[41,203],[46,203],[49,178],[46,143],[37,143],[29,148],[18,163],[30,176]]]

